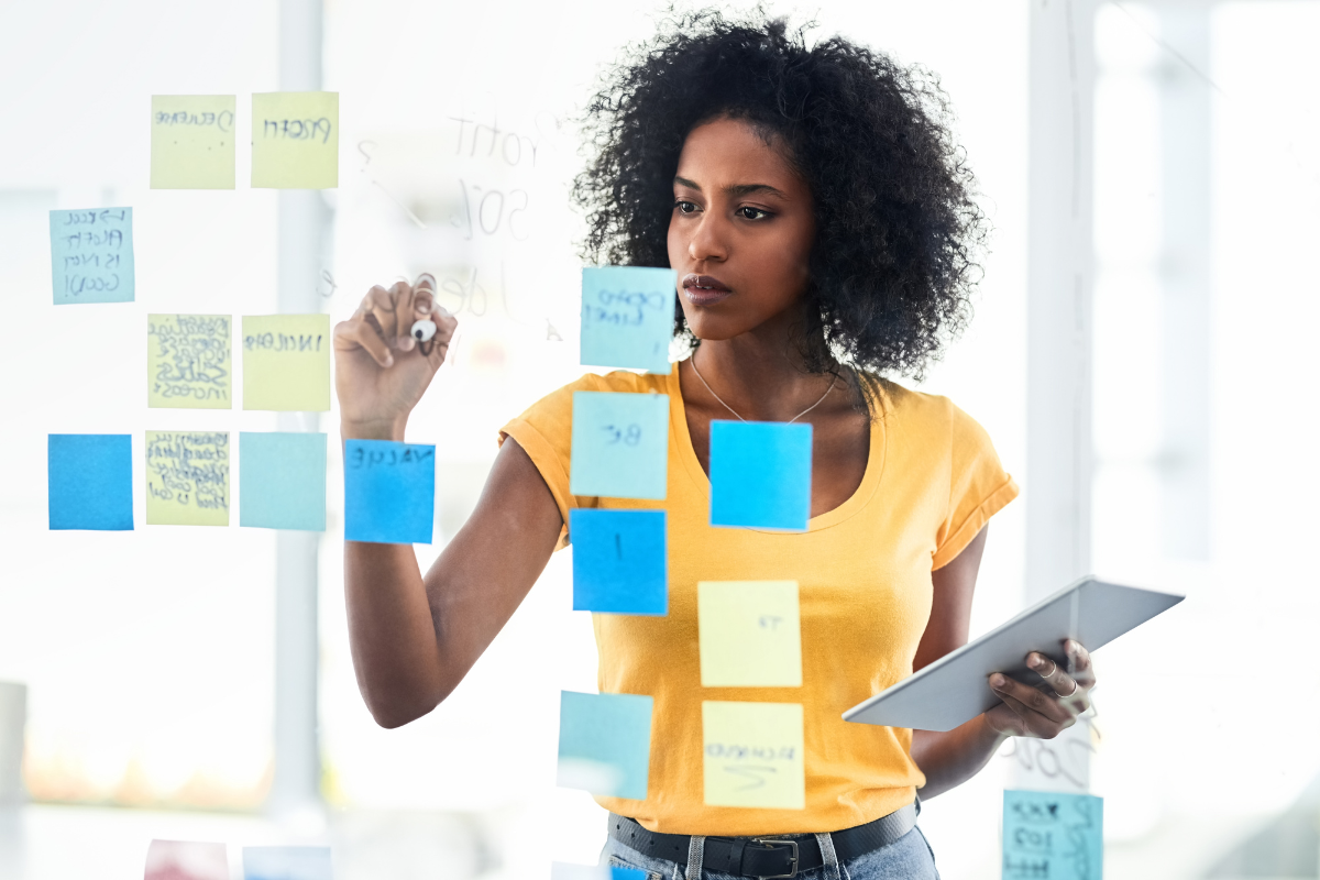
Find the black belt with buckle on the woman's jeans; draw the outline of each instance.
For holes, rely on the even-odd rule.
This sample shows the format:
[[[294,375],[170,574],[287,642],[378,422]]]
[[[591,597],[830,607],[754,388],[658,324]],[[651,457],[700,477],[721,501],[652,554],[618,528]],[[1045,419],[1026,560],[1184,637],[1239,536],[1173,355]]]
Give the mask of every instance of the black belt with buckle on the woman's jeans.
[[[882,815],[874,822],[855,829],[834,831],[834,854],[840,862],[887,847],[916,825],[917,806],[908,803],[900,810]],[[610,814],[610,836],[652,859],[668,859],[688,864],[686,834],[659,834],[647,831],[636,821]],[[762,838],[706,838],[701,867],[738,877],[793,877],[825,864],[816,835],[779,834]]]

